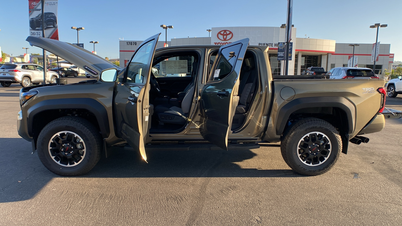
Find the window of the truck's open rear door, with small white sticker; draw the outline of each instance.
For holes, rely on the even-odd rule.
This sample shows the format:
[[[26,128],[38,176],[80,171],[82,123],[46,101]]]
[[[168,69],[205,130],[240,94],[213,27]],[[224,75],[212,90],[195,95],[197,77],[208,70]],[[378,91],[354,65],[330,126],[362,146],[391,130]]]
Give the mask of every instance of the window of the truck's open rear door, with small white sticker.
[[[239,43],[222,49],[221,54],[217,56],[216,68],[208,81],[222,80],[232,72],[241,47],[242,44]]]

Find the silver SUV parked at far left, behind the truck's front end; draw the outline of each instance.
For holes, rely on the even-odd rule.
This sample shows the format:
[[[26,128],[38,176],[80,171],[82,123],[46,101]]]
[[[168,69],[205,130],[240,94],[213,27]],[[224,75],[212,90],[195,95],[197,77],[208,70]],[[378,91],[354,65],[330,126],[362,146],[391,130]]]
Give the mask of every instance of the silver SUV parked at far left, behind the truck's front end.
[[[46,72],[46,81],[56,83],[59,75],[56,72]],[[38,64],[18,63],[3,64],[0,67],[0,84],[8,87],[12,83],[20,83],[22,87],[37,85],[43,82],[43,67]]]

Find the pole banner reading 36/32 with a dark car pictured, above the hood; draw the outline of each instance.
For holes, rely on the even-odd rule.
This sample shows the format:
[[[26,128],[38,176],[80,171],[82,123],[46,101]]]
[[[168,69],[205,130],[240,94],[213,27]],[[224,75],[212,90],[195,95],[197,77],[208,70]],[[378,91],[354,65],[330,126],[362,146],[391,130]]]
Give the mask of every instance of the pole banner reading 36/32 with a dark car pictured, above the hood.
[[[29,35],[42,37],[42,1],[28,0],[29,2]],[[57,0],[45,0],[45,37],[59,40],[57,30]]]

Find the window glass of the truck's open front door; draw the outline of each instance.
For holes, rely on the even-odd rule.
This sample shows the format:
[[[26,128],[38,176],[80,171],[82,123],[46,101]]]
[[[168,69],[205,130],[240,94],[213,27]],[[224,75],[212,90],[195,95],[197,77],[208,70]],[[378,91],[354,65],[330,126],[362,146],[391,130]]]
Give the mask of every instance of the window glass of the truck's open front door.
[[[152,45],[155,39],[145,43],[135,51],[133,58],[127,67],[127,82],[144,83],[148,76],[150,57],[153,55]]]

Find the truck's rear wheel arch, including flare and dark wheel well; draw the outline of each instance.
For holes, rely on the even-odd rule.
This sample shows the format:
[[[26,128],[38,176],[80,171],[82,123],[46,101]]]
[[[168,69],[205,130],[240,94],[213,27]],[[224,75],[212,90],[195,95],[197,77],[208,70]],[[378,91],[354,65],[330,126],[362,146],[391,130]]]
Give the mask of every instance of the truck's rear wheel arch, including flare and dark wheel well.
[[[324,119],[346,134],[351,134],[355,125],[355,112],[355,106],[343,97],[305,97],[295,99],[289,101],[278,111],[278,121],[275,127],[276,134],[282,135],[291,120],[305,117]]]

